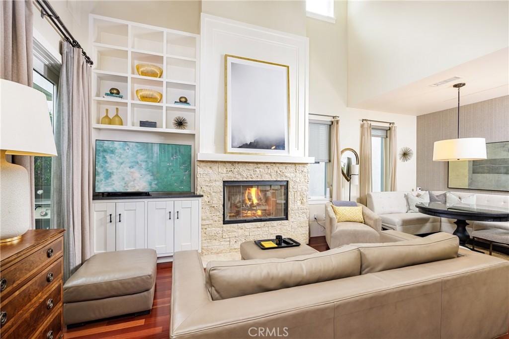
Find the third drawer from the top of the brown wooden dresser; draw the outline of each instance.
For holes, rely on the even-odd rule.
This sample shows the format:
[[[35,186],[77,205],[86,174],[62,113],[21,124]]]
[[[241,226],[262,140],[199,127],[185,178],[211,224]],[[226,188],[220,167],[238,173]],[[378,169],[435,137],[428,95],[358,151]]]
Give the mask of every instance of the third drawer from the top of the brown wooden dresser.
[[[41,326],[55,312],[58,313],[62,309],[62,280],[53,284],[53,288],[48,292],[43,298],[39,298],[38,303],[31,308],[29,315],[18,315],[16,323],[11,326],[9,332],[2,333],[2,339],[30,337],[34,334],[34,328]]]

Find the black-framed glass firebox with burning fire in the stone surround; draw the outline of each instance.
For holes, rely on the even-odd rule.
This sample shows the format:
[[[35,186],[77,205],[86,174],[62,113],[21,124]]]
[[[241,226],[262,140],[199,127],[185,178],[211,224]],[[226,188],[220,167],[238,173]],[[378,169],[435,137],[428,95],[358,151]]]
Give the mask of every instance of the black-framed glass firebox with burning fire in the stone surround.
[[[288,220],[288,181],[223,181],[223,224]]]

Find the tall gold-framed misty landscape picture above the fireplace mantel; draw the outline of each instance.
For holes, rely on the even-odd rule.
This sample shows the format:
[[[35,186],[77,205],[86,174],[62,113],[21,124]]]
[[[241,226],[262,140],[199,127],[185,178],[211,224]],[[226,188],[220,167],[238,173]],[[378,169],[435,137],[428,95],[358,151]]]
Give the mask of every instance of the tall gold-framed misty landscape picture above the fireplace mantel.
[[[224,55],[224,151],[289,155],[290,67]]]

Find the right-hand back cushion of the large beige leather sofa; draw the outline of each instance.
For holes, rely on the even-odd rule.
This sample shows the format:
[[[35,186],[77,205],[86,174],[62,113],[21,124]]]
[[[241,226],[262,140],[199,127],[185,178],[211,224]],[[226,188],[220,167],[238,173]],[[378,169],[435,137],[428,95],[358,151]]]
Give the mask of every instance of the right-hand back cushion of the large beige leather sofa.
[[[459,240],[455,235],[439,232],[413,240],[352,246],[360,250],[361,274],[367,274],[456,258]]]

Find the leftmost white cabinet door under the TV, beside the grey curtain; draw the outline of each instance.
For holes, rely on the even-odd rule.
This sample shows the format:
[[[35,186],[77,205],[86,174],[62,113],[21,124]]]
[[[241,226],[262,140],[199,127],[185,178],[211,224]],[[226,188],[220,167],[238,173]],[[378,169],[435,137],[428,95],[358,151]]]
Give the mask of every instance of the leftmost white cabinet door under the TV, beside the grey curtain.
[[[92,254],[115,250],[115,203],[94,203]]]

